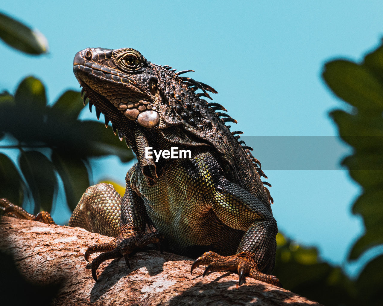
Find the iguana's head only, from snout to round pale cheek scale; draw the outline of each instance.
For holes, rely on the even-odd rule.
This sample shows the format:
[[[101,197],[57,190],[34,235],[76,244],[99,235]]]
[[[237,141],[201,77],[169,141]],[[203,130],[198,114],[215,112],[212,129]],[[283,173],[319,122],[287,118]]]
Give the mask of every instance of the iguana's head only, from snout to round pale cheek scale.
[[[87,48],[75,55],[73,65],[75,76],[96,111],[110,116],[113,106],[143,127],[160,124],[158,78],[150,62],[137,50]],[[101,106],[101,101],[109,107]]]

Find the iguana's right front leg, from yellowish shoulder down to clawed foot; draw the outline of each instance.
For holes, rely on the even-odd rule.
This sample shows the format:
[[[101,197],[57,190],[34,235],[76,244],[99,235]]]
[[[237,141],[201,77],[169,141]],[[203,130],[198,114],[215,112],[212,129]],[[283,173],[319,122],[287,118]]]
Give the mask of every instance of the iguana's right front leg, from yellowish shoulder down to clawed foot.
[[[203,165],[206,163],[202,163]],[[215,161],[209,161],[209,183],[213,185],[208,199],[211,208],[224,224],[244,231],[237,252],[232,256],[220,256],[216,252],[205,252],[191,267],[191,273],[198,265],[208,265],[209,271],[235,271],[239,274],[239,285],[245,275],[273,285],[282,286],[270,275],[275,264],[277,223],[265,203],[244,188],[228,181]],[[206,180],[206,179],[205,179]],[[230,239],[228,237],[228,239]]]

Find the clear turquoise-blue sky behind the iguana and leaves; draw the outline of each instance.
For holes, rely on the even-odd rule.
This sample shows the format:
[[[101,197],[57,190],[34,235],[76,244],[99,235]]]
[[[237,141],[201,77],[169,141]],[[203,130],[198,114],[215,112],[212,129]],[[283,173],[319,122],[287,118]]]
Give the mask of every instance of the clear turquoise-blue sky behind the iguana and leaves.
[[[383,37],[380,1],[14,0],[3,2],[0,11],[39,29],[50,46],[48,55],[34,57],[0,44],[0,90],[13,92],[22,78],[34,75],[52,103],[64,90],[79,88],[72,72],[77,51],[133,47],[154,63],[195,70],[190,77],[218,91],[214,101],[228,109],[238,121],[234,129],[246,136],[336,136],[328,112],[347,106],[321,80],[324,62],[360,60]],[[85,111],[82,117],[95,119],[95,114]],[[338,161],[347,153],[339,146],[343,151],[328,153]],[[278,143],[267,149],[275,153]],[[123,184],[130,167],[114,158],[94,164],[95,182],[110,177]],[[265,172],[283,233],[317,246],[322,258],[349,271],[360,266],[345,262],[363,232],[360,218],[350,213],[359,188],[346,171]],[[54,217],[64,222],[67,213],[56,209]]]

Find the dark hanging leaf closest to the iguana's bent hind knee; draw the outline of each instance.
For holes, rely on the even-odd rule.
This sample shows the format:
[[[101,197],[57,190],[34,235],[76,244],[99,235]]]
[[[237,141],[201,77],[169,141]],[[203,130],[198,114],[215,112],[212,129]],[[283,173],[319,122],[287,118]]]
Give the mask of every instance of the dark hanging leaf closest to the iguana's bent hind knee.
[[[73,211],[89,187],[88,170],[80,158],[63,152],[53,151],[52,161],[64,183],[68,206]]]

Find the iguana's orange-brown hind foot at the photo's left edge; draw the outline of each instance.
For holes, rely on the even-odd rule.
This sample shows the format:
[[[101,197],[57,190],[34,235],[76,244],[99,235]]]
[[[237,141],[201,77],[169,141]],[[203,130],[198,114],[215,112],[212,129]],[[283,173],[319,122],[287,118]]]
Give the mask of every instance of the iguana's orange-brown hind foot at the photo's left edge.
[[[36,216],[28,213],[26,210],[12,204],[5,198],[0,199],[0,210],[3,216],[23,219],[23,220],[33,220],[40,221],[46,224],[55,224],[52,216],[49,212],[39,212]]]

